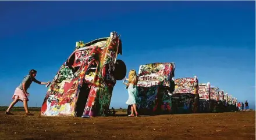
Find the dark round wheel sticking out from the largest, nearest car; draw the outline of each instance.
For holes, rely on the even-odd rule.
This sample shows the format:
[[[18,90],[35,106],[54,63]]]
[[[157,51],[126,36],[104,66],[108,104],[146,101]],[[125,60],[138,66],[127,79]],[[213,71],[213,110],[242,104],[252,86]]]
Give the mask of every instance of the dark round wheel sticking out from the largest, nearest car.
[[[126,76],[126,65],[122,60],[116,60],[114,77],[116,80],[122,80]]]

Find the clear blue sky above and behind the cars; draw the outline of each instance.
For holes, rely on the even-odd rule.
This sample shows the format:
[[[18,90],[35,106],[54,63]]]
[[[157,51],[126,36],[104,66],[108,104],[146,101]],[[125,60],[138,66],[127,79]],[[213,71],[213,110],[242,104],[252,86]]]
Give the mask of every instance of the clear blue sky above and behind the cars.
[[[51,81],[76,41],[117,31],[127,71],[175,62],[175,78],[197,75],[255,106],[254,1],[1,1],[0,17],[0,105],[30,69]],[[41,106],[46,92],[33,83],[29,106]],[[126,107],[127,98],[118,81],[111,107]]]

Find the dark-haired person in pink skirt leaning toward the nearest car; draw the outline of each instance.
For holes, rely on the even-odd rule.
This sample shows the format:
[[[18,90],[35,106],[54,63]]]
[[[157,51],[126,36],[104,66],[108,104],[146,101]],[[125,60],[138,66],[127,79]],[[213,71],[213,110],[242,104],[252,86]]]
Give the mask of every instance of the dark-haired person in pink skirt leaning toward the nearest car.
[[[27,108],[27,101],[29,101],[29,93],[27,93],[27,89],[29,89],[30,84],[32,82],[38,83],[38,84],[48,84],[50,82],[39,82],[37,79],[35,79],[35,76],[37,75],[37,71],[34,69],[31,69],[29,71],[29,75],[25,76],[22,83],[16,88],[15,93],[12,96],[13,102],[10,104],[9,108],[6,110],[6,115],[13,115],[13,113],[10,113],[10,109],[18,102],[22,101],[24,105],[24,109],[26,111],[26,115],[33,116],[32,113],[29,112],[29,109]]]

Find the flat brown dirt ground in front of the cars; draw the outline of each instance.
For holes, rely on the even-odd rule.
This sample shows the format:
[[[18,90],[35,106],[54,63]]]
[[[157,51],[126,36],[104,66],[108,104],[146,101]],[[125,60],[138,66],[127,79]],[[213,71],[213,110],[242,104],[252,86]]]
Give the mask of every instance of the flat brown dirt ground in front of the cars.
[[[44,117],[0,112],[0,139],[255,139],[255,112]]]

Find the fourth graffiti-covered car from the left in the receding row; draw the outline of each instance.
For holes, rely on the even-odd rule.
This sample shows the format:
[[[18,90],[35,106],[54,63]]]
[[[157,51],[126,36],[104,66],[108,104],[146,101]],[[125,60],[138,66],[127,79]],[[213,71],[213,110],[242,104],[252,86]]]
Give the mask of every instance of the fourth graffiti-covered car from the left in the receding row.
[[[199,94],[199,106],[200,112],[209,112],[209,99],[211,98],[210,83],[200,83],[198,94]]]

